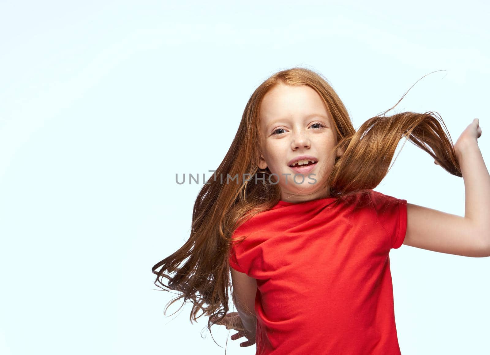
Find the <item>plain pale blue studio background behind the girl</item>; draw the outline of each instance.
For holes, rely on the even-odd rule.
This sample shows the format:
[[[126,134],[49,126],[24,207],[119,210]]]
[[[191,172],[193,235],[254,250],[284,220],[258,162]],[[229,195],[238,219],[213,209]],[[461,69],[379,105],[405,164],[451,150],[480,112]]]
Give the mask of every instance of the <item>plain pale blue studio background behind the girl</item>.
[[[254,354],[222,326],[218,347],[190,304],[163,316],[172,294],[151,266],[189,237],[201,187],[175,174],[202,183],[253,90],[294,66],[330,81],[356,129],[444,69],[395,111],[439,112],[453,142],[480,118],[488,160],[488,13],[484,1],[2,1],[0,353]],[[404,142],[376,190],[464,216],[463,179]],[[402,354],[489,354],[490,258],[402,245],[391,266]]]

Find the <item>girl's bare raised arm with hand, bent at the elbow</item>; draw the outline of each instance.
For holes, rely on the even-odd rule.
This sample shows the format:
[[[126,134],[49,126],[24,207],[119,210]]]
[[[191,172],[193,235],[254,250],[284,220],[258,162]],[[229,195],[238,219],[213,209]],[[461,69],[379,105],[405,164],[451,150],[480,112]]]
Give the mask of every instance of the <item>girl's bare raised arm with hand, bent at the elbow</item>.
[[[454,145],[465,181],[465,217],[407,203],[403,244],[447,254],[490,256],[490,175],[477,144],[480,135],[475,119]]]

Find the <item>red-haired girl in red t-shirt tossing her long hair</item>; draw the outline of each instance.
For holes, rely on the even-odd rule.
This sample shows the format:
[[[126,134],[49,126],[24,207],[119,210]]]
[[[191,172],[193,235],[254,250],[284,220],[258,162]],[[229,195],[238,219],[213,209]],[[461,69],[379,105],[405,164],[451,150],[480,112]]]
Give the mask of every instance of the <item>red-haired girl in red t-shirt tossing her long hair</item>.
[[[454,146],[443,127],[433,112],[402,112],[355,131],[318,73],[275,73],[250,97],[228,153],[197,196],[189,240],[152,267],[155,285],[181,292],[167,308],[190,299],[191,321],[202,311],[209,329],[238,331],[231,338],[256,344],[256,354],[400,354],[390,250],[490,255],[490,176],[478,119]],[[464,177],[465,217],[373,190],[403,136]],[[238,312],[228,312],[230,286]]]

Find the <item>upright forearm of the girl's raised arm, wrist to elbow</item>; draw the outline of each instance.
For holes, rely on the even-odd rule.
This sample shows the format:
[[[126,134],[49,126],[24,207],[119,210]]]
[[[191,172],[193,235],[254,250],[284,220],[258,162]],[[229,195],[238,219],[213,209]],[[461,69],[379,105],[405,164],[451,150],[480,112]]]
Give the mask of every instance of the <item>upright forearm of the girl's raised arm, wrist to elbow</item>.
[[[475,226],[483,245],[490,245],[490,175],[476,142],[457,152],[465,181],[465,218]]]

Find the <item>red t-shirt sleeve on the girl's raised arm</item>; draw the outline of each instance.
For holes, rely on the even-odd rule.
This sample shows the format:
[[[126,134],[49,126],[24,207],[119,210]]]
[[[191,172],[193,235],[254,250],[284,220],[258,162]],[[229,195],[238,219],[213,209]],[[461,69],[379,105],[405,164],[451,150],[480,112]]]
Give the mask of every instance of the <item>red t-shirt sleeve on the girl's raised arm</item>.
[[[407,200],[372,190],[372,202],[381,226],[389,236],[390,248],[397,249],[407,232]]]

